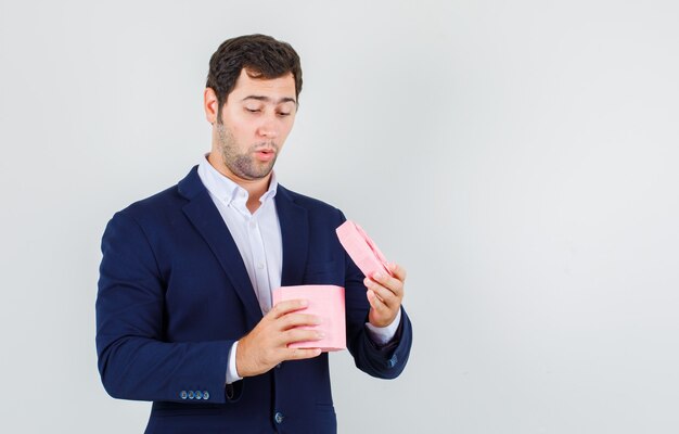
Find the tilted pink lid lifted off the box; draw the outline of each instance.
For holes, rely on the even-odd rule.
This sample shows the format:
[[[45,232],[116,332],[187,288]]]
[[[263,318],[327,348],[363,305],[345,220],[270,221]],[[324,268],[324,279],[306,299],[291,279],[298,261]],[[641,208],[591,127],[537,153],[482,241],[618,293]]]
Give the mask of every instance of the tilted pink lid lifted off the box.
[[[372,278],[375,272],[383,271],[393,276],[386,258],[360,226],[347,220],[336,229],[336,232],[340,243],[363,275]]]

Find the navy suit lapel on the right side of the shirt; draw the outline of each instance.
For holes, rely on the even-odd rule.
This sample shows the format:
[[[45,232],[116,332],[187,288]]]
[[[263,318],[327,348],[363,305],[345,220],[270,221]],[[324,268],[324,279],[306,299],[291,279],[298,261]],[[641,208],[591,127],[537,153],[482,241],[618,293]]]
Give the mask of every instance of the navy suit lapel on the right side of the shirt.
[[[309,247],[309,220],[307,210],[297,205],[292,194],[282,186],[276,193],[276,210],[281,224],[283,241],[283,269],[281,285],[302,283]]]

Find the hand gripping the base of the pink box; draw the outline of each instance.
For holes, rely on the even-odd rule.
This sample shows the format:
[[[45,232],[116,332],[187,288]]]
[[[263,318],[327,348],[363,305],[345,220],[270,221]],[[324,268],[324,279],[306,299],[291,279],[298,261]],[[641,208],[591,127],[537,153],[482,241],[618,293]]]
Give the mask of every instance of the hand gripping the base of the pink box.
[[[316,357],[320,348],[289,348],[294,342],[319,341],[323,334],[317,330],[299,329],[317,326],[320,318],[297,314],[308,306],[306,299],[281,302],[265,315],[255,328],[239,341],[235,370],[240,376],[265,373],[281,361]]]

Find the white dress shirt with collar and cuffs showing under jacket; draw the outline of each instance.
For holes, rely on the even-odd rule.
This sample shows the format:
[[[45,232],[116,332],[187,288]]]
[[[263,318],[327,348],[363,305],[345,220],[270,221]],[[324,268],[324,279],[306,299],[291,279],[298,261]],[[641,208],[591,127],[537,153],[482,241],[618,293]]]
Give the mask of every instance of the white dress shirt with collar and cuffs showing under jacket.
[[[215,169],[207,161],[207,155],[201,158],[198,177],[233,237],[261,312],[266,315],[271,310],[271,291],[281,285],[283,267],[281,226],[274,202],[278,188],[276,174],[271,174],[269,189],[259,197],[260,205],[255,213],[247,209],[247,190]],[[373,342],[383,345],[394,337],[399,323],[400,310],[387,327],[379,328],[370,323],[366,326]],[[236,350],[238,342],[229,352],[227,384],[241,380],[235,369]]]

